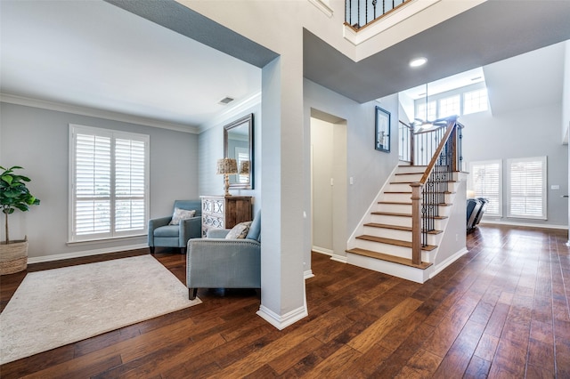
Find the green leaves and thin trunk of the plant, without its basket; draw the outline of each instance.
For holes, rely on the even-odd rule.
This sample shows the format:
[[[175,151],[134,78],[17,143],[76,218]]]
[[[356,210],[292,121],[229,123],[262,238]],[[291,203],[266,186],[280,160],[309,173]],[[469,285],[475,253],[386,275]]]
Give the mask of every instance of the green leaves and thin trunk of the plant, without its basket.
[[[39,205],[39,198],[29,193],[26,182],[30,181],[27,176],[18,175],[14,170],[23,170],[19,165],[10,168],[4,168],[0,165],[0,169],[4,170],[0,174],[0,206],[5,214],[6,228],[6,245],[10,243],[8,234],[8,214],[13,214],[16,209],[22,212],[29,211],[29,206]]]

